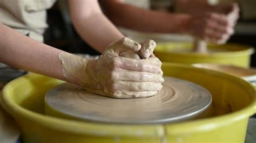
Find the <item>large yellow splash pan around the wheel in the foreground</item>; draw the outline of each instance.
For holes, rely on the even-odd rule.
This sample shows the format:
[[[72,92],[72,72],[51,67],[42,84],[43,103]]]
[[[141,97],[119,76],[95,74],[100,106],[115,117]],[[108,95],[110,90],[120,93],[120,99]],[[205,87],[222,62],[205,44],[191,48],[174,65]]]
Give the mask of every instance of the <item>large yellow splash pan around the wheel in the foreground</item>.
[[[28,142],[244,142],[256,111],[255,87],[242,78],[192,66],[163,63],[165,76],[195,82],[211,92],[212,116],[173,124],[101,124],[44,115],[44,96],[63,83],[28,74],[3,89],[4,108]]]

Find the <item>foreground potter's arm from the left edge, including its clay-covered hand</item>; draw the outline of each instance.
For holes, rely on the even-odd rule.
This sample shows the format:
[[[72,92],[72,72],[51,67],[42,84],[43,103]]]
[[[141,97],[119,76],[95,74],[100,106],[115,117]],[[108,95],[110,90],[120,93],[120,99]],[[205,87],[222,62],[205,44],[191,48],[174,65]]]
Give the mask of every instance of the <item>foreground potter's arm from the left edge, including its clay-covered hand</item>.
[[[0,62],[16,68],[59,78],[115,98],[153,96],[162,88],[164,79],[159,59],[119,56],[141,50],[142,46],[129,38],[111,44],[99,59],[87,60],[41,44],[3,24],[0,24],[0,35]]]

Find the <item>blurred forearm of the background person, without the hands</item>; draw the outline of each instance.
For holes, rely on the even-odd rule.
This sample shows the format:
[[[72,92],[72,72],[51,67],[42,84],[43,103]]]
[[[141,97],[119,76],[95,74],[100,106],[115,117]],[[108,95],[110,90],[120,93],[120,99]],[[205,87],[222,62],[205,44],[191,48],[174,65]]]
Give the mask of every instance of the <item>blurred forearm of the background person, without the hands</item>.
[[[150,11],[118,1],[102,3],[107,16],[114,24],[138,31],[184,33],[190,18],[189,15]]]

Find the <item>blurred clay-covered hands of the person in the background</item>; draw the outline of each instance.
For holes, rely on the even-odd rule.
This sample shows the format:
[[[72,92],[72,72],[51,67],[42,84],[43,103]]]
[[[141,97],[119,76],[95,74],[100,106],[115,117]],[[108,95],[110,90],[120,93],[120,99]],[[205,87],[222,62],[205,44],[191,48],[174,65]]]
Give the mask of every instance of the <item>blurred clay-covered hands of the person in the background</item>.
[[[237,3],[220,4],[212,12],[192,13],[185,26],[190,34],[199,39],[217,44],[224,44],[234,33],[234,26],[239,18]]]

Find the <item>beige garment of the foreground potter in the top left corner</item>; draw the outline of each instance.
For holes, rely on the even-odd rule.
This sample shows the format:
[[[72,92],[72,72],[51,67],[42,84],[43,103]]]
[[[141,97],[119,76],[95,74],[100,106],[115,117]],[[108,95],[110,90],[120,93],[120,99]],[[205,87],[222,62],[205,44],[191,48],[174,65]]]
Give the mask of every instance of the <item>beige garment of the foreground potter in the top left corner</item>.
[[[56,0],[0,0],[0,23],[43,42],[46,10]]]

